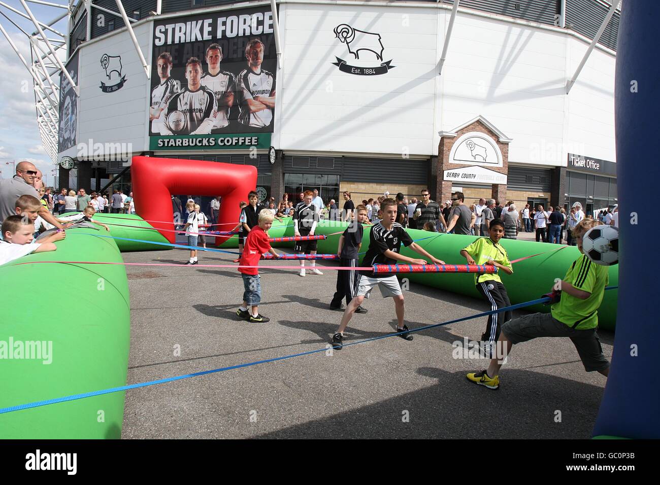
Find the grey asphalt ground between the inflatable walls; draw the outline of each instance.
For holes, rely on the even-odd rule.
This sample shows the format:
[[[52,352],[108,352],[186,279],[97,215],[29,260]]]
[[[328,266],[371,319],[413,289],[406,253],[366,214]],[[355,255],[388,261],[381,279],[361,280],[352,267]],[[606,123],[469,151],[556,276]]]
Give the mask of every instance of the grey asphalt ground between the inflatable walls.
[[[123,253],[127,262],[185,263],[183,249]],[[199,253],[200,264],[234,255]],[[323,276],[267,269],[260,312],[236,316],[243,294],[232,268],[127,266],[131,303],[128,383],[212,370],[323,348],[342,313],[328,304],[337,263]],[[306,263],[309,265],[309,262]],[[482,300],[410,284],[405,321],[414,329],[488,311]],[[345,342],[387,335],[393,302],[376,290]],[[521,314],[522,311],[517,312]],[[465,373],[486,360],[454,358],[453,342],[478,339],[486,318],[399,337],[127,391],[123,438],[589,438],[605,377],[586,373],[568,339],[513,348],[500,389]],[[606,356],[614,335],[601,332]],[[177,352],[177,349],[180,349]],[[175,354],[179,355],[175,355]]]

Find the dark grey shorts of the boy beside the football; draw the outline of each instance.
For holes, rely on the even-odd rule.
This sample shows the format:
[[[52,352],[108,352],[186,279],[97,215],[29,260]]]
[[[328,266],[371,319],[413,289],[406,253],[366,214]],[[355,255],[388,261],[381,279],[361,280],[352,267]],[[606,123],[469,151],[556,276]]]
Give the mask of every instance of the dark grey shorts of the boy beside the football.
[[[568,337],[576,346],[585,371],[601,371],[610,366],[603,355],[603,347],[596,329],[572,329],[554,319],[550,313],[532,313],[509,320],[502,325],[502,333],[513,344],[527,342],[537,337]]]

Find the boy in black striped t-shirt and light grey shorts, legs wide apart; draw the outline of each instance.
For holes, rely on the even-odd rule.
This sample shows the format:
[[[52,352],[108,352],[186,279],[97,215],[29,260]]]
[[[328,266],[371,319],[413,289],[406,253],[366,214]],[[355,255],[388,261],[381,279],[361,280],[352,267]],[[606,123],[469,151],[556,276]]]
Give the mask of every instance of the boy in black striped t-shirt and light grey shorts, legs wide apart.
[[[394,199],[385,199],[381,203],[380,208],[383,213],[383,219],[372,227],[369,249],[367,250],[366,255],[364,255],[362,265],[392,265],[398,261],[413,265],[426,264],[424,259],[413,259],[399,254],[401,243],[405,246],[409,246],[416,253],[430,259],[436,265],[445,264],[444,261],[434,258],[432,255],[424,251],[422,247],[414,243],[403,226],[398,222],[395,222],[397,220],[397,202]],[[350,300],[350,304],[346,307],[344,315],[341,318],[339,329],[337,329],[337,333],[333,335],[333,347],[337,350],[342,348],[342,340],[344,338],[343,331],[345,331],[348,321],[350,321],[350,317],[353,316],[355,309],[362,304],[365,297],[369,296],[371,290],[374,289],[375,286],[380,287],[383,297],[387,298],[388,296],[391,296],[394,299],[398,320],[397,332],[399,333],[399,337],[405,340],[413,340],[413,336],[409,334],[408,327],[403,325],[403,294],[401,293],[401,286],[399,286],[397,276],[395,276],[394,273],[374,274],[373,271],[360,271],[360,273],[358,291],[353,299]]]

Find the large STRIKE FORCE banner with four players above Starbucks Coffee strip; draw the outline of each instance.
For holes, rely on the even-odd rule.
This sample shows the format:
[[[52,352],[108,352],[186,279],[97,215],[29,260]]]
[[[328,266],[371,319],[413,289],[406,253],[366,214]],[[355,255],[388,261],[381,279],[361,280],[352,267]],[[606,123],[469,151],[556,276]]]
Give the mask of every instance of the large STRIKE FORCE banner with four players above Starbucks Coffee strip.
[[[150,150],[268,148],[277,53],[270,7],[154,22]]]

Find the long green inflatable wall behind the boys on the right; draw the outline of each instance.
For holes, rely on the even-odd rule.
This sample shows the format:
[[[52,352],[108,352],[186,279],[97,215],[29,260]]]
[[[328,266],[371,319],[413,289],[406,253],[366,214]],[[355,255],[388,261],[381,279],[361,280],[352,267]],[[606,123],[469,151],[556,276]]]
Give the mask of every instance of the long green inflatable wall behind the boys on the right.
[[[317,227],[316,234],[333,234],[342,231],[347,226],[345,222],[323,221]],[[411,238],[426,251],[442,259],[447,264],[465,264],[461,256],[461,249],[477,239],[477,236],[462,236],[460,234],[433,233],[416,229],[408,229]],[[341,234],[330,236],[327,240],[320,240],[319,253],[335,253]],[[362,240],[362,253],[369,247],[370,226],[364,226]],[[426,238],[426,239],[424,239]],[[551,243],[537,243],[534,241],[518,241],[502,239],[509,258],[513,261],[526,256],[542,253],[541,255],[519,261],[513,265],[513,275],[502,273],[500,277],[512,304],[537,300],[543,294],[552,290],[555,278],[564,278],[566,271],[579,256],[576,246],[565,246]],[[401,254],[408,257],[418,257],[411,249],[401,247]],[[475,277],[470,274],[449,273],[402,273],[402,277],[417,283],[426,284],[449,292],[455,292],[475,298],[482,298],[475,288]],[[609,268],[609,286],[618,286],[618,265]],[[616,323],[616,296],[618,290],[608,290],[598,311],[599,326],[603,329],[614,330]],[[532,306],[531,311],[550,311],[549,306]]]

